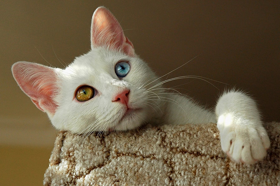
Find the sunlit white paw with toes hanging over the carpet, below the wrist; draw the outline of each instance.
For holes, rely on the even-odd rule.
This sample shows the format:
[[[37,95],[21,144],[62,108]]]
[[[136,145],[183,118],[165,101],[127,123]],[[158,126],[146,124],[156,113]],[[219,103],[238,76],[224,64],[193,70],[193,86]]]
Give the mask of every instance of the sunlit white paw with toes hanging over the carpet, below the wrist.
[[[264,159],[270,146],[264,127],[230,117],[221,116],[217,122],[222,150],[237,163],[253,164]]]

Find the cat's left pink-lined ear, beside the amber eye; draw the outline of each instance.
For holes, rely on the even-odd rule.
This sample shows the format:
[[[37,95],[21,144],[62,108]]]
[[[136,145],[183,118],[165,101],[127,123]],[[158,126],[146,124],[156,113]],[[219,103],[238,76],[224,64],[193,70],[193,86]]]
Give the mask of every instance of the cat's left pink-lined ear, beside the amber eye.
[[[40,110],[50,115],[58,107],[53,99],[60,90],[58,70],[30,62],[17,62],[12,66],[13,76],[21,90]]]

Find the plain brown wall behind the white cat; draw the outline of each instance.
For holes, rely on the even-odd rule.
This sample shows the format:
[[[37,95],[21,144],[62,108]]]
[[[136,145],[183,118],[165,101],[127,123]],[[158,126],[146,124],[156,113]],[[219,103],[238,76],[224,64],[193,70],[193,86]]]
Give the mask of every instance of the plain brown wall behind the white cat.
[[[182,93],[209,108],[226,88],[240,88],[258,101],[265,121],[280,121],[279,1],[1,2],[0,126],[2,133],[8,132],[7,137],[0,138],[3,156],[0,165],[10,167],[1,170],[4,171],[2,182],[21,174],[21,185],[28,180],[34,183],[38,180],[36,183],[41,184],[48,159],[30,161],[30,154],[38,157],[45,152],[48,157],[55,137],[46,114],[16,85],[11,65],[16,61],[30,61],[63,67],[75,56],[86,53],[90,50],[91,16],[101,5],[109,8],[121,22],[137,54],[157,74],[164,75],[199,55],[169,78],[197,75],[229,84],[211,81],[216,89],[207,82],[186,79],[167,86],[184,84],[180,86]],[[32,127],[22,121],[33,123]],[[35,133],[38,135],[33,136]],[[50,142],[33,147],[33,141],[47,138]],[[38,156],[34,155],[37,151]],[[21,153],[25,156],[20,156],[23,158],[20,161],[11,157]],[[10,161],[3,160],[8,157]],[[34,176],[35,173],[40,176]]]

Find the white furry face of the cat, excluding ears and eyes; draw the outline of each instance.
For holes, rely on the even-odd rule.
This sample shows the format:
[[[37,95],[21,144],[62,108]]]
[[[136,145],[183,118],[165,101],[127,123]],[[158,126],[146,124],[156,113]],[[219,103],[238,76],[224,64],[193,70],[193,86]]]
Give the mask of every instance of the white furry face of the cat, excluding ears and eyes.
[[[108,54],[106,50],[93,49],[62,71],[59,107],[52,123],[63,123],[62,129],[75,132],[127,130],[155,115],[153,101],[148,100],[146,91],[156,82],[141,88],[155,78],[149,67],[138,57],[121,52]],[[119,77],[115,70],[119,63],[130,67],[125,77]],[[81,87],[81,94],[85,95],[84,86],[92,88],[94,93],[89,100],[79,101],[77,91]]]

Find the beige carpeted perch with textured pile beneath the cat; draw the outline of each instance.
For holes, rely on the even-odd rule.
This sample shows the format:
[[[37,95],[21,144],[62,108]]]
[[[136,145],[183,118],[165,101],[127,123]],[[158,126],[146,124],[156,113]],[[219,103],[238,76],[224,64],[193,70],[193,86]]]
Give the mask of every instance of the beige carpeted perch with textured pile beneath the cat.
[[[222,152],[216,124],[146,125],[88,137],[57,135],[44,185],[280,185],[280,123],[265,123],[268,156],[254,165]]]

